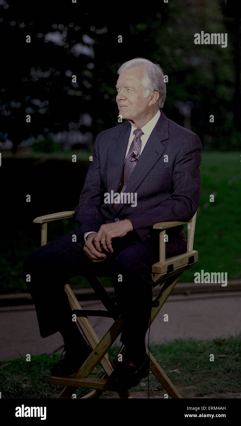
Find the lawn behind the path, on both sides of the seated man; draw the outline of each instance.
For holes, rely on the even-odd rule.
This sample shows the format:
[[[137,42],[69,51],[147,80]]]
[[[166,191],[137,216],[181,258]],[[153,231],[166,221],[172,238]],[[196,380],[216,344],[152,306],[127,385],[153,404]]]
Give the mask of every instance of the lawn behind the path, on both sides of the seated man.
[[[85,153],[83,160],[87,160],[88,155],[89,153]],[[71,158],[71,153],[68,153],[68,157]],[[202,191],[194,240],[194,249],[198,250],[199,260],[193,268],[183,273],[180,282],[193,282],[194,273],[201,272],[202,269],[204,272],[227,272],[227,279],[241,278],[240,165],[238,152],[204,152],[202,154]],[[72,191],[76,194],[75,188]],[[211,194],[215,196],[214,202],[210,202]],[[59,197],[56,198],[56,202],[58,199]],[[76,207],[75,204],[72,205],[72,195],[66,203],[68,207],[64,207],[64,210],[74,210]],[[51,207],[51,209],[61,210],[59,207]],[[29,219],[30,225],[33,218]],[[4,255],[0,256],[2,271],[0,293],[26,292],[27,290],[22,278],[23,259],[39,247],[40,225],[34,224],[32,228],[29,228],[31,232],[26,231],[27,226],[19,225],[18,230],[14,232],[14,241],[8,243]],[[13,228],[14,224],[11,227]],[[67,219],[50,223],[48,224],[49,239],[69,233],[76,227],[72,220]],[[73,288],[89,287],[82,277],[74,277],[69,282]],[[110,279],[102,279],[102,282],[106,286],[112,285]]]

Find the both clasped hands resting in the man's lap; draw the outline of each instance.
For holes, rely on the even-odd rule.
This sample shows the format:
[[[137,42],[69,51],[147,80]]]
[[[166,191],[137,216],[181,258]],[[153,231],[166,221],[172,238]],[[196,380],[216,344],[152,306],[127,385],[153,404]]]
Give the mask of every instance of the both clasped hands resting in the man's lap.
[[[88,235],[83,250],[92,262],[102,262],[106,259],[106,254],[102,253],[102,249],[113,253],[112,238],[123,237],[132,230],[133,225],[130,219],[101,225],[97,233]]]

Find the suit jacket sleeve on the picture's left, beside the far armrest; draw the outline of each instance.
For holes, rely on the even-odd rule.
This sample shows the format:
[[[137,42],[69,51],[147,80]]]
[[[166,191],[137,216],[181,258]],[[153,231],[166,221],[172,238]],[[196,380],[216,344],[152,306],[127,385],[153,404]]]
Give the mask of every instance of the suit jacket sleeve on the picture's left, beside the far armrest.
[[[85,184],[79,197],[79,205],[74,210],[79,224],[78,235],[85,232],[98,232],[105,219],[100,212],[102,193],[105,191],[99,173],[99,135],[95,141],[93,163],[88,169]]]

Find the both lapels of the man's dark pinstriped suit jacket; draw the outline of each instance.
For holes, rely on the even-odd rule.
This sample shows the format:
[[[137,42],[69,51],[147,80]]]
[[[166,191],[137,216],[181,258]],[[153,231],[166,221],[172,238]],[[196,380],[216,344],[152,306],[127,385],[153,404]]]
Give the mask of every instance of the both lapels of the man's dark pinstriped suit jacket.
[[[128,138],[129,138],[130,132],[128,132]],[[154,127],[153,131],[150,134],[149,139],[147,140],[147,143],[145,145],[144,150],[142,151],[142,154],[136,164],[136,167],[133,170],[133,173],[130,177],[130,180],[128,182],[128,185],[125,189],[126,193],[134,193],[136,189],[139,187],[139,185],[142,183],[142,181],[145,179],[145,176],[150,172],[150,170],[153,168],[153,166],[156,164],[156,161],[159,160],[163,152],[165,151],[166,147],[162,144],[162,141],[165,141],[169,138],[169,125],[168,125],[168,119],[164,115],[163,112],[161,112],[161,115],[159,117],[159,120],[156,123],[156,126]],[[127,143],[125,144],[124,149],[124,157],[122,153],[122,165],[121,167],[117,167],[118,169],[118,179],[117,176],[115,178],[118,180],[118,183],[114,186],[116,188],[116,191],[119,187],[119,182],[121,178],[122,173],[122,167],[123,162],[125,158],[125,152],[127,149],[128,139]],[[120,158],[119,158],[120,162]],[[119,172],[120,170],[120,172]],[[114,178],[114,181],[115,181]],[[116,210],[116,213],[122,209],[124,204],[119,204],[118,209]],[[114,210],[113,210],[114,211]]]

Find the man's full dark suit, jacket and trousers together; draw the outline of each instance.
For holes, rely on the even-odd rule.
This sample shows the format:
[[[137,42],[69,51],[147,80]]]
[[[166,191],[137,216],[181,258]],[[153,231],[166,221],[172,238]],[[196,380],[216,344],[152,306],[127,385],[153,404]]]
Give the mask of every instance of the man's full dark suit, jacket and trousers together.
[[[25,259],[24,278],[31,276],[26,285],[34,299],[42,337],[57,332],[71,315],[64,291],[67,280],[86,276],[88,271],[113,278],[123,320],[122,343],[133,344],[133,340],[145,337],[152,302],[151,265],[159,260],[159,230],[152,227],[157,222],[186,221],[196,213],[201,193],[201,141],[161,111],[125,189],[137,194],[137,205],[119,204],[115,211],[112,202],[104,202],[104,194],[118,191],[130,129],[125,122],[99,133],[94,161],[75,209],[79,226]],[[84,233],[98,232],[102,224],[126,218],[133,231],[113,238],[114,251],[103,262],[91,262],[83,251]],[[186,251],[182,226],[166,233],[166,257]],[[72,241],[73,234],[77,242]]]

